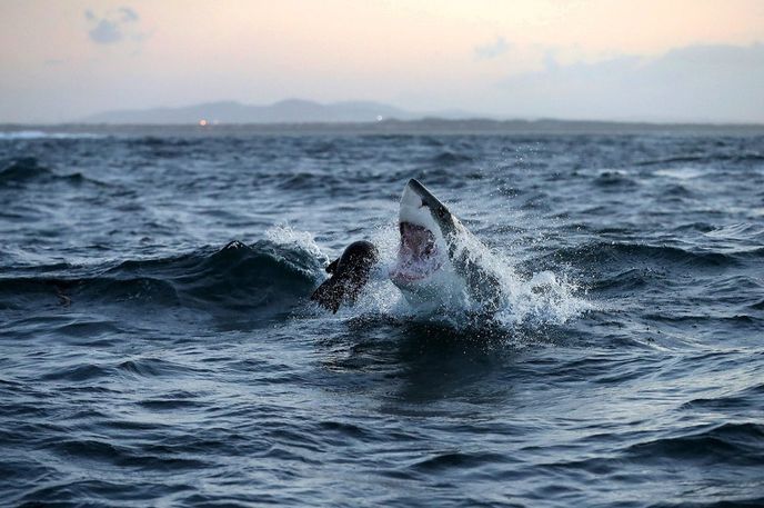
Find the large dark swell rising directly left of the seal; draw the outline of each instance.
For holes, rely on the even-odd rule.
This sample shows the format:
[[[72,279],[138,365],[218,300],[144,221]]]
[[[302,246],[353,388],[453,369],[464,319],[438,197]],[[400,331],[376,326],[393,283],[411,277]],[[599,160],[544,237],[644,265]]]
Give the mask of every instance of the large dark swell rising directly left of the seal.
[[[233,241],[213,252],[128,260],[79,278],[3,277],[0,308],[21,309],[43,299],[72,308],[120,302],[275,316],[310,295],[320,262],[295,246]]]

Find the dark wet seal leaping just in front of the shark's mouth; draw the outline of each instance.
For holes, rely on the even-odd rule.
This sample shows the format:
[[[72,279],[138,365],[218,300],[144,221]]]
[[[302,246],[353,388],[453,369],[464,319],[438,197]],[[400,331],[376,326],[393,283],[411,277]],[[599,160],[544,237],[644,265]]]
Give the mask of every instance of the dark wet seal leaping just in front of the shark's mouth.
[[[313,291],[311,300],[332,312],[336,312],[343,301],[355,301],[378,260],[374,243],[361,240],[349,245],[342,256],[326,267],[331,277]]]

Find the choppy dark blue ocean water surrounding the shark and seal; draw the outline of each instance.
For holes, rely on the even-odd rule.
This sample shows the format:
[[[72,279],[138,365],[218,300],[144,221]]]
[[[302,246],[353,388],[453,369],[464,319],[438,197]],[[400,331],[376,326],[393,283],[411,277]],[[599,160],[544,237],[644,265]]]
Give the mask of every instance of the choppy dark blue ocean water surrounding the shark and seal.
[[[494,319],[385,280],[410,178]],[[764,505],[764,133],[6,132],[0,202],[0,504]]]

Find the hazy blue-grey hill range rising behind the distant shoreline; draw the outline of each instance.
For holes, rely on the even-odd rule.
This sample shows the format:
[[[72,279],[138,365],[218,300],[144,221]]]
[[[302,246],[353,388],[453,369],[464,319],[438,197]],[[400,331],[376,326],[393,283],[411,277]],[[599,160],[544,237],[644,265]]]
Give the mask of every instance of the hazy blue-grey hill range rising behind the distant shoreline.
[[[444,118],[464,118],[459,111],[430,113]],[[78,119],[82,123],[182,124],[205,120],[219,123],[353,123],[423,118],[410,111],[379,102],[333,102],[322,104],[290,99],[269,106],[242,104],[235,101],[208,102],[182,108],[105,111]]]

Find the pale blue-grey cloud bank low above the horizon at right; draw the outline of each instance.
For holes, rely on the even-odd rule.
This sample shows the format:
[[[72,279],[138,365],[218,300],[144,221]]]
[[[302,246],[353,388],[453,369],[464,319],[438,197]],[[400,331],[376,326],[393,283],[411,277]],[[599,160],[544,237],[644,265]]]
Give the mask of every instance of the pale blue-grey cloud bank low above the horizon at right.
[[[622,56],[500,83],[515,114],[591,119],[764,122],[764,44],[690,46],[660,57]]]

